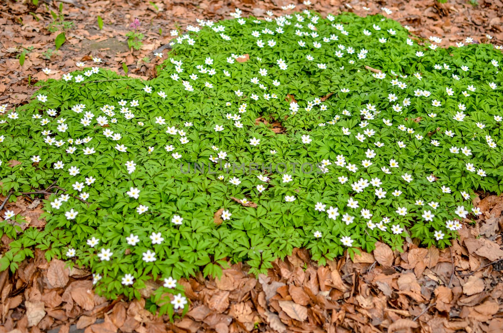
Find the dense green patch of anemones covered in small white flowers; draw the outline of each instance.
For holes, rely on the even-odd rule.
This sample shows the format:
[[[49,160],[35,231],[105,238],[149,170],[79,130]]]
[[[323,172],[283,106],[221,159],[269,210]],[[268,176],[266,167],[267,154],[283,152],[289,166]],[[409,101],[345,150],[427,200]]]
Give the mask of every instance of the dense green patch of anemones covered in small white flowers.
[[[233,16],[173,31],[154,79],[92,66],[0,107],[2,194],[50,195],[43,230],[5,212],[0,269],[35,246],[107,297],[164,279],[152,309],[173,314],[176,280],[228,263],[448,246],[480,213],[474,191],[503,190],[493,45],[418,44],[381,15]]]

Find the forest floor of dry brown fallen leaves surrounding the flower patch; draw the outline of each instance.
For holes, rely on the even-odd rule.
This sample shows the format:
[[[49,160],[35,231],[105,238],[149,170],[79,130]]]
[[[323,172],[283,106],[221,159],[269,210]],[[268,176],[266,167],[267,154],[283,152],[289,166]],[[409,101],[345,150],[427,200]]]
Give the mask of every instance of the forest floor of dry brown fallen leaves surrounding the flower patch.
[[[37,80],[59,78],[77,69],[75,63],[92,63],[93,57],[124,74],[149,78],[162,59],[153,55],[166,45],[170,30],[196,24],[196,18],[220,20],[236,7],[243,15],[263,16],[282,1],[84,1],[64,4],[66,21],[74,28],[66,42],[49,57],[58,33],[47,28],[56,2],[38,7],[31,1],[0,3],[0,104],[26,103]],[[370,11],[363,7],[370,8]],[[386,7],[392,11],[385,14]],[[305,6],[299,5],[298,10]],[[453,45],[472,37],[478,43],[503,42],[503,3],[461,0],[440,4],[434,0],[361,2],[320,0],[310,7],[320,13],[353,11],[359,15],[383,13],[411,27],[417,36],[443,38]],[[100,30],[97,17],[103,18]],[[125,34],[138,18],[145,34],[141,50],[127,47]],[[159,32],[159,29],[161,31]],[[492,36],[488,40],[486,34]],[[19,54],[29,50],[21,66]],[[164,52],[165,53],[165,52]],[[165,57],[165,55],[164,55]],[[51,74],[42,72],[52,69]],[[0,202],[4,201],[0,196]],[[351,260],[338,258],[325,267],[311,262],[305,249],[277,260],[267,275],[246,274],[235,264],[221,279],[196,276],[182,280],[191,301],[183,319],[170,322],[145,307],[145,297],[155,289],[152,281],[134,301],[106,300],[94,294],[91,273],[48,263],[40,251],[12,274],[0,273],[0,333],[3,332],[196,332],[296,331],[296,332],[501,332],[503,331],[503,197],[481,195],[474,202],[483,212],[475,224],[466,223],[453,245],[438,249],[418,246],[414,240],[402,252],[378,243],[373,253]],[[19,197],[6,209],[25,216],[28,225],[43,228],[40,200]],[[468,222],[468,220],[466,221]],[[10,240],[3,237],[2,249]]]

